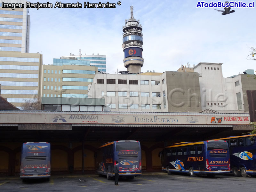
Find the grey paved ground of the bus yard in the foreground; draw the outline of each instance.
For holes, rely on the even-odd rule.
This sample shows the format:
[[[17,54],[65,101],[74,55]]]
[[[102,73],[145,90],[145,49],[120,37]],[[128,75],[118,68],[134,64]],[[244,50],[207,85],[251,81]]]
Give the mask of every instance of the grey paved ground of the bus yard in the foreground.
[[[192,178],[185,174],[142,173],[134,180],[120,179],[120,186],[114,180],[98,175],[55,175],[49,182],[32,180],[23,183],[19,177],[0,177],[0,192],[16,191],[254,191],[256,178],[218,175],[214,178],[198,176]]]

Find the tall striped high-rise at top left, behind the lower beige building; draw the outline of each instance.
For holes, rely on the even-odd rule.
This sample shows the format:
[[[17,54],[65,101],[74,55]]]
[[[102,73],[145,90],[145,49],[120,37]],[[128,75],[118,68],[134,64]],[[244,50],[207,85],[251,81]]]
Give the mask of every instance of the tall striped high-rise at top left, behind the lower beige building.
[[[7,3],[22,3],[26,0],[3,0],[0,3],[0,50],[13,52],[29,52],[29,31],[30,31],[30,16],[28,9],[2,8],[2,2]]]

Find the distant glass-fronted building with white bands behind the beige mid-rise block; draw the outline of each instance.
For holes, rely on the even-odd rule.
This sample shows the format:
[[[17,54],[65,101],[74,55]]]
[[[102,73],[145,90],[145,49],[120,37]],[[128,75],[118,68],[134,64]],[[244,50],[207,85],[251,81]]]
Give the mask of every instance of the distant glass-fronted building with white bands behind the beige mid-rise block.
[[[102,73],[106,73],[107,71],[107,67],[106,67],[106,55],[99,55],[99,53],[97,55],[94,55],[92,53],[92,55],[74,55],[72,53],[70,53],[70,56],[63,56],[60,57],[60,59],[69,59],[70,57],[72,57],[73,59],[76,60],[87,60],[90,61],[90,66],[95,66],[98,68],[98,71],[102,72]]]

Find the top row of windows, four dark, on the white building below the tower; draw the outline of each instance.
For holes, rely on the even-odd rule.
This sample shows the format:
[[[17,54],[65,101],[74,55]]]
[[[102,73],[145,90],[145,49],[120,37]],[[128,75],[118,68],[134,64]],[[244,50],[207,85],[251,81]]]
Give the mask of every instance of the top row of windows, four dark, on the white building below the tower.
[[[104,84],[104,79],[97,79],[98,84]],[[107,79],[107,84],[116,84],[116,79]],[[118,84],[127,84],[126,79],[118,79]],[[129,80],[129,84],[131,85],[137,85],[138,80]],[[148,80],[140,80],[141,85],[148,85]],[[164,84],[164,80],[163,80]],[[160,85],[160,81],[151,81],[151,85]]]

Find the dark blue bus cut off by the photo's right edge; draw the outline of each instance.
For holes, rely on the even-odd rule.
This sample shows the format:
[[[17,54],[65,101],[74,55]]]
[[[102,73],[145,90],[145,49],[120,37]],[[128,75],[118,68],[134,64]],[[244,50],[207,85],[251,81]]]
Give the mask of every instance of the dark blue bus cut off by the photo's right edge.
[[[256,177],[255,135],[221,138],[228,142],[231,170],[235,176]]]

